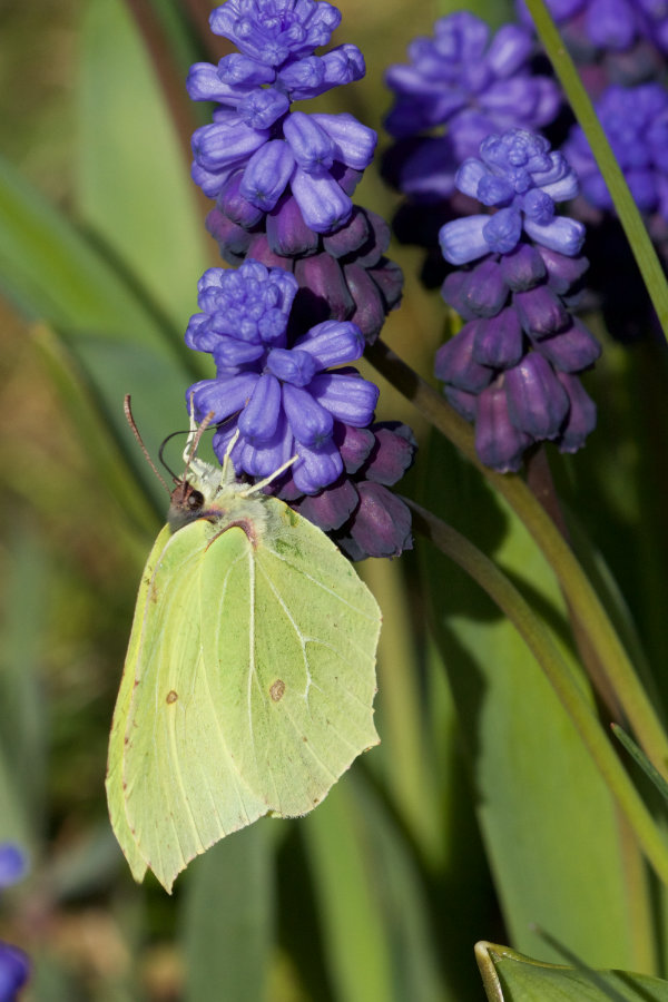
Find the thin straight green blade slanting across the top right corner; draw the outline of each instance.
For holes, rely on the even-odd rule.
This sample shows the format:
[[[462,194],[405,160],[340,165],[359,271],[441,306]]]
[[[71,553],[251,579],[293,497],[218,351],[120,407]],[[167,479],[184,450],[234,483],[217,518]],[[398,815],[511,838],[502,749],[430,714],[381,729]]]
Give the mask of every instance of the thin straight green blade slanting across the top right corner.
[[[587,136],[591,151],[603,175],[619,220],[631,245],[631,250],[638,262],[638,267],[659,317],[661,328],[666,337],[668,337],[668,285],[642,217],[638,212],[638,206],[629,191],[629,186],[589,100],[589,95],[584,90],[580,75],[563,45],[563,40],[544,0],[527,0],[527,7],[531,12],[546,52],[554,67],[554,72],[559,77],[563,91],[578,121],[582,126],[582,131]]]

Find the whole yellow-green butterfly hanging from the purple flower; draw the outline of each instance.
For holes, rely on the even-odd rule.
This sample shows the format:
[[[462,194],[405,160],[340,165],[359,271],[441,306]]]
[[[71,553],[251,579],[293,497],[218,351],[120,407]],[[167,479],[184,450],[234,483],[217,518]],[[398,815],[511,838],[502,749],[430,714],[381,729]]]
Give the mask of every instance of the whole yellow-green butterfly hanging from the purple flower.
[[[126,413],[139,438],[129,399]],[[244,484],[229,454],[199,460],[203,428],[190,420],[141,574],[106,779],[135,880],[151,870],[168,892],[232,832],[312,811],[379,743],[374,597],[321,529],[263,493],[273,478]]]

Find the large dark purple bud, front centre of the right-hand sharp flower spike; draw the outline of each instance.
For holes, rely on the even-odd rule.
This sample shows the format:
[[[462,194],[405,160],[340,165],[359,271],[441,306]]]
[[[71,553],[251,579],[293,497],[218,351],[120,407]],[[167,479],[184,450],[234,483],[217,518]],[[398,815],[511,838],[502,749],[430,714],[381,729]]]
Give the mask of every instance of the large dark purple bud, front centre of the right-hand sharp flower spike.
[[[569,400],[549,362],[537,352],[505,373],[508,416],[534,439],[554,439],[568,414]]]

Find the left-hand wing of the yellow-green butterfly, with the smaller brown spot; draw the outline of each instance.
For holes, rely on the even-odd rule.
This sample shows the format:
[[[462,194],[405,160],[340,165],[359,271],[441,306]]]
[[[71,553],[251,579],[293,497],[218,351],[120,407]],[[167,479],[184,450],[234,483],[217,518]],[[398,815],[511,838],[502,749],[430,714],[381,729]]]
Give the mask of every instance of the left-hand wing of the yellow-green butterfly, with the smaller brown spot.
[[[206,638],[218,626],[207,588],[233,630],[239,596],[247,591],[248,540],[240,529],[217,531],[198,520],[170,537],[146,596],[136,647],[124,741],[125,811],[139,853],[167,891],[194,856],[268,811],[235,766],[226,735],[235,710],[220,704],[214,677],[245,674],[247,655],[235,666],[224,649],[215,662],[205,656]]]

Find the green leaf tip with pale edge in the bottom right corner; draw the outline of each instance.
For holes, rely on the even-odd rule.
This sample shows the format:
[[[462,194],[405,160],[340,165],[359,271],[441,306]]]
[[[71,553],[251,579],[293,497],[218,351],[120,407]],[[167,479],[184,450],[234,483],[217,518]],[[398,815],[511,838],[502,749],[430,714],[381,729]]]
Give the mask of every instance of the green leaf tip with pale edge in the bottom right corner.
[[[492,943],[475,955],[490,1002],[668,1002],[668,982],[646,974],[542,964]]]

